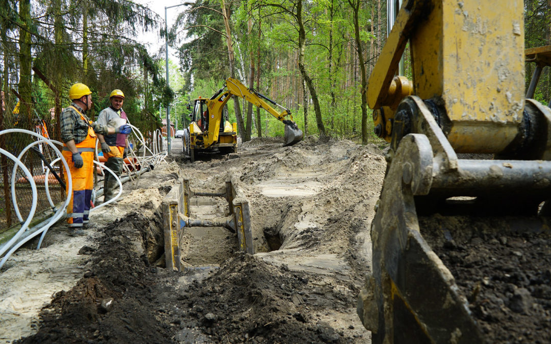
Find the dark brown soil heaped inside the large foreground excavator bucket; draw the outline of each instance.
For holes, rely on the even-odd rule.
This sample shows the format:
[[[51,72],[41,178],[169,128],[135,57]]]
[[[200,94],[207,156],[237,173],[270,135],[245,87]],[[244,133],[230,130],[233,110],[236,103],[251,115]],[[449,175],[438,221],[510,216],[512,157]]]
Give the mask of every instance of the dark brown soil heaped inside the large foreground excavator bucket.
[[[442,216],[420,221],[423,237],[455,277],[489,343],[551,341],[551,237],[544,223]]]

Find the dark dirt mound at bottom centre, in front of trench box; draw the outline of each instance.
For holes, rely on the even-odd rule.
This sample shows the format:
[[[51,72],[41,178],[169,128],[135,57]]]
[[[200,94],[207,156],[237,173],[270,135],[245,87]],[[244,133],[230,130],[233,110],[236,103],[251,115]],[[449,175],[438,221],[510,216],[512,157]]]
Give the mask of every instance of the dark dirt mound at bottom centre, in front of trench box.
[[[327,308],[328,303],[335,310],[348,308],[354,302],[353,294],[315,287],[309,278],[240,254],[179,294],[181,301],[175,309],[183,312],[170,316],[181,316],[180,336],[190,342],[201,335],[220,343],[351,341],[309,314]]]

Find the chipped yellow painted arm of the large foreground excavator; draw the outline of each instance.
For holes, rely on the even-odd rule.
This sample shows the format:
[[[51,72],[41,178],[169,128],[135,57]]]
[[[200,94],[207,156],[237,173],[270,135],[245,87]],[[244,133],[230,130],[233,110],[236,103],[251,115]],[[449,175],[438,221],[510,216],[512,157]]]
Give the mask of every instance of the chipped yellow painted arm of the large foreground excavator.
[[[453,148],[504,150],[517,134],[524,107],[523,88],[518,87],[524,78],[523,3],[495,6],[491,1],[404,2],[369,79],[369,106],[378,110],[375,126],[386,128],[393,105],[408,95],[393,92],[392,80],[409,39],[410,94],[445,108],[445,132]],[[390,141],[391,132],[381,130],[380,136]]]

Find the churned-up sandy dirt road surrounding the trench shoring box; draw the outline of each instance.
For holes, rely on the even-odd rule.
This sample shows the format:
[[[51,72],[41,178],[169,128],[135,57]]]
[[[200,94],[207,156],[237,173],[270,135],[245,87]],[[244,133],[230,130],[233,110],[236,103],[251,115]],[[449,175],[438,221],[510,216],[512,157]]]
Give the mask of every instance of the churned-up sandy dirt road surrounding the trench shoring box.
[[[374,146],[306,139],[282,148],[280,140],[255,139],[237,155],[193,164],[179,141],[172,149],[174,161],[145,173],[137,188],[125,185],[125,199],[93,214],[86,236],[53,228],[45,250],[58,257],[46,269],[45,250],[14,256],[0,275],[0,295],[10,296],[0,305],[13,309],[0,318],[10,325],[0,339],[370,342],[355,304],[371,265],[369,225],[386,166]],[[163,196],[179,178],[214,190],[230,176],[249,200],[256,254],[237,253],[235,234],[223,228],[191,228],[186,272],[156,267]],[[224,215],[214,199],[191,211]],[[54,284],[60,269],[66,274]],[[8,295],[14,285],[19,291]]]

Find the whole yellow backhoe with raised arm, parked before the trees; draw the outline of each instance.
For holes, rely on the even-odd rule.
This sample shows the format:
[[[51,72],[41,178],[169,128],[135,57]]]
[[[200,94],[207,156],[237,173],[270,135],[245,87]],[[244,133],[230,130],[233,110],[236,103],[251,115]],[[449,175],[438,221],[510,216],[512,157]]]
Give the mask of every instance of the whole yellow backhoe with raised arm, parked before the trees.
[[[183,151],[190,156],[192,162],[195,161],[198,151],[218,149],[223,154],[237,151],[237,125],[228,121],[226,108],[231,96],[241,97],[282,121],[285,124],[284,146],[294,145],[302,140],[302,131],[293,122],[293,116],[287,108],[255,90],[247,89],[239,80],[228,78],[224,86],[210,99],[199,97],[194,102],[191,123],[182,135]],[[283,111],[277,112],[266,101]],[[286,119],[287,116],[289,119]],[[224,125],[221,125],[222,121]]]

